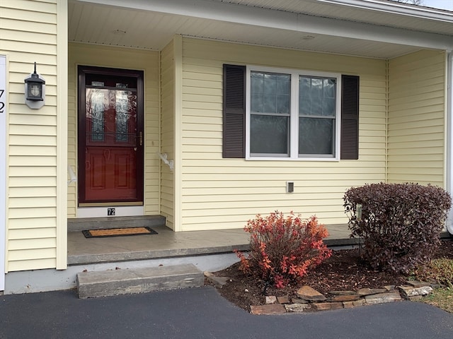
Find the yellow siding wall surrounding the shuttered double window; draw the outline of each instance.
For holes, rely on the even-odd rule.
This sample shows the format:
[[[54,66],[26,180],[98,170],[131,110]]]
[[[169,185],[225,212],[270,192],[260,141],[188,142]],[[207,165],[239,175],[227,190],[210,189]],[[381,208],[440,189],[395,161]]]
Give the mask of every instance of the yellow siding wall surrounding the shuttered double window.
[[[360,76],[360,160],[222,159],[222,64],[331,71]],[[182,230],[243,227],[257,213],[316,214],[345,223],[350,186],[385,180],[386,63],[241,44],[183,39]],[[294,193],[286,193],[286,182]]]

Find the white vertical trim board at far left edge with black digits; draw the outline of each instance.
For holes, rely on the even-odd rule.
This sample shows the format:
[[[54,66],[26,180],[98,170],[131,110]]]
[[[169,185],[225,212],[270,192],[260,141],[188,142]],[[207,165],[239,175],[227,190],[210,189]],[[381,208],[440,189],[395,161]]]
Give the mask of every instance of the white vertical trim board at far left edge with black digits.
[[[5,290],[6,107],[6,55],[0,55],[0,291]]]

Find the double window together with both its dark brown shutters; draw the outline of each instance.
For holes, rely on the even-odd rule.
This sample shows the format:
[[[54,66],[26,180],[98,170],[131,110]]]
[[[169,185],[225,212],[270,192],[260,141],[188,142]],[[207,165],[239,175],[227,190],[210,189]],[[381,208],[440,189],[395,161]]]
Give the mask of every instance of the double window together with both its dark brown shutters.
[[[222,157],[357,160],[357,75],[224,64]]]

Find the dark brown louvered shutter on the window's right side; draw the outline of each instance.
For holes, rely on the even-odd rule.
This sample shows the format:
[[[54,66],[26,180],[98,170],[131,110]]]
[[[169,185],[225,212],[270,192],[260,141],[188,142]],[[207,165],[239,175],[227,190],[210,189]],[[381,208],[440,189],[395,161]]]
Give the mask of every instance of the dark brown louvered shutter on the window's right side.
[[[341,77],[341,143],[340,158],[359,158],[359,77]]]

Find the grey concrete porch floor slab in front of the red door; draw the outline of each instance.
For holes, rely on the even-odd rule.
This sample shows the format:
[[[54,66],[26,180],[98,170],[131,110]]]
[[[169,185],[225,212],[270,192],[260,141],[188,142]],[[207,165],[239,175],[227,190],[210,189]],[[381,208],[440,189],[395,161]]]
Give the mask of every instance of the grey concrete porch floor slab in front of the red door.
[[[328,246],[348,246],[348,225],[326,225]],[[243,229],[173,232],[165,226],[151,227],[158,234],[131,237],[86,239],[81,231],[68,232],[68,264],[110,263],[120,261],[231,254],[248,249],[248,233]]]

